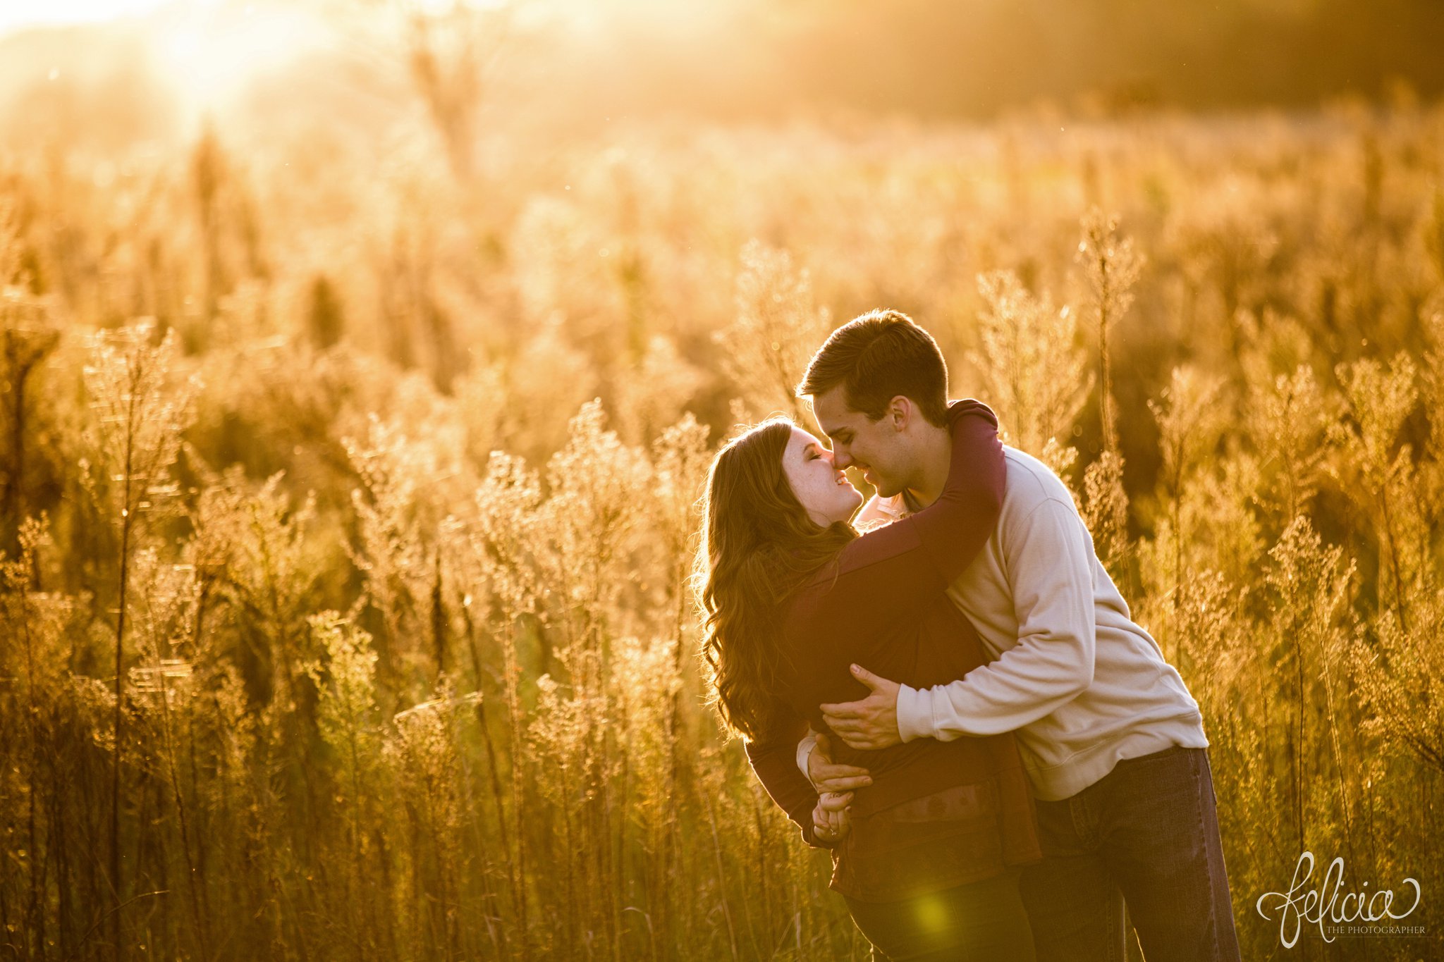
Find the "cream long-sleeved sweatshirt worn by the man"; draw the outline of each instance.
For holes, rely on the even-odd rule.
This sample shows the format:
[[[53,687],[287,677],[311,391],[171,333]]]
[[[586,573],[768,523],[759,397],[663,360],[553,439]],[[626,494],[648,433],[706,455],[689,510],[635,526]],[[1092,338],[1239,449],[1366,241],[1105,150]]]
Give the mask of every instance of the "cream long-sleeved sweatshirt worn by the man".
[[[995,658],[965,678],[898,692],[904,741],[1017,731],[1034,795],[1077,795],[1168,746],[1207,747],[1199,704],[1093,551],[1069,489],[1043,462],[1004,447],[1002,516],[949,597]],[[874,502],[907,512],[902,498]],[[807,772],[814,738],[799,744]]]

